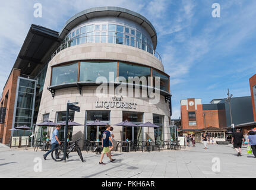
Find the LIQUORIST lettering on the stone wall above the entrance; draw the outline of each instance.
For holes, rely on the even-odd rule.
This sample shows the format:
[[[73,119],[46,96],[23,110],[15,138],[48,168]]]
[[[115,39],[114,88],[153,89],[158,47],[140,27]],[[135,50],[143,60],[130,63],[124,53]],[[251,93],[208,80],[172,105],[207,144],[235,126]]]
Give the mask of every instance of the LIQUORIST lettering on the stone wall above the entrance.
[[[97,101],[96,108],[121,108],[121,109],[136,109],[137,103],[123,102],[122,97],[112,97],[110,101]]]

